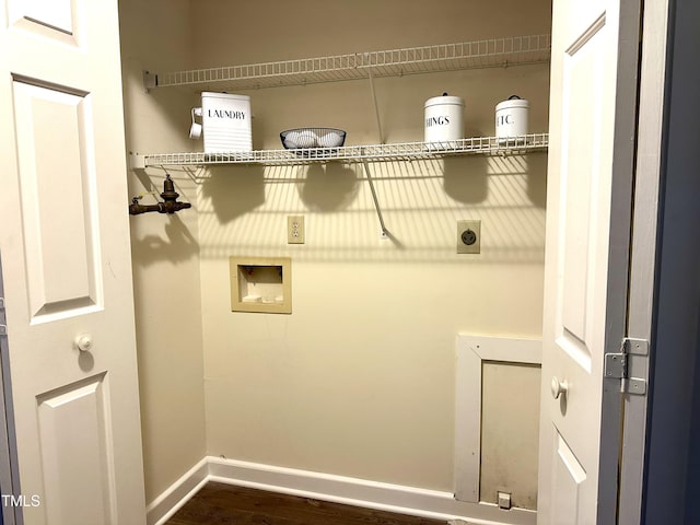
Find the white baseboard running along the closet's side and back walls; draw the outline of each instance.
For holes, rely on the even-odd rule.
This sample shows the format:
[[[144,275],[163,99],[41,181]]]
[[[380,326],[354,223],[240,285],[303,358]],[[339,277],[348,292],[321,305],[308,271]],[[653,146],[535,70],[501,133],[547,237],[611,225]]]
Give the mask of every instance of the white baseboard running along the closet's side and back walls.
[[[207,481],[434,520],[466,520],[474,525],[535,525],[537,521],[534,511],[457,501],[451,492],[208,456],[148,506],[148,524],[163,524]]]

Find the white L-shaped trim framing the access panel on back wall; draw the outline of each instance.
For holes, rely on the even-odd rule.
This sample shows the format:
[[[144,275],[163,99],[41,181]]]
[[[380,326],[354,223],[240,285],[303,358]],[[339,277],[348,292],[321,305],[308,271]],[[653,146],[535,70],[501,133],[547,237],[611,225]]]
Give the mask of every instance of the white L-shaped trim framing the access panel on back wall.
[[[481,474],[481,362],[541,364],[541,339],[457,336],[455,385],[455,497],[479,503]]]

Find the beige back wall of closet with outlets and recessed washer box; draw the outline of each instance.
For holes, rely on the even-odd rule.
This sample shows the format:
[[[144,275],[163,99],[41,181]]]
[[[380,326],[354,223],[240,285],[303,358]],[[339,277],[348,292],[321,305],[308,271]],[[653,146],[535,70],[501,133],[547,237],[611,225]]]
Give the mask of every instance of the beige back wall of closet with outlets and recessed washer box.
[[[191,7],[200,67],[548,33],[550,23],[547,2]],[[492,135],[493,107],[512,93],[530,100],[532,131],[547,130],[547,65],[378,79],[376,89],[387,141],[421,140],[423,103],[444,91],[466,100],[468,135]],[[256,148],[310,125],[346,129],[348,144],[378,140],[365,82],[246,94]],[[456,335],[540,334],[545,166],[544,154],[372,164],[394,241],[378,238],[362,165],[202,172],[208,453],[452,490]],[[306,244],[287,244],[289,214],[305,215]],[[481,255],[456,255],[458,219],[482,221]],[[293,313],[232,313],[232,255],[291,256]]]

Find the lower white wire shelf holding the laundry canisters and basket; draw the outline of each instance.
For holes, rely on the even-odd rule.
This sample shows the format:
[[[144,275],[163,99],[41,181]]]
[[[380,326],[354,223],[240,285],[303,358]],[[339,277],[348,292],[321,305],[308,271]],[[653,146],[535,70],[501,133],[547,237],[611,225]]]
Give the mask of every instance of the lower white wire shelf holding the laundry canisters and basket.
[[[135,167],[262,164],[299,165],[326,162],[389,162],[440,159],[450,155],[517,155],[546,151],[548,133],[518,137],[476,137],[445,142],[401,142],[394,144],[345,145],[340,148],[308,148],[296,150],[257,150],[223,153],[153,153],[135,154]]]

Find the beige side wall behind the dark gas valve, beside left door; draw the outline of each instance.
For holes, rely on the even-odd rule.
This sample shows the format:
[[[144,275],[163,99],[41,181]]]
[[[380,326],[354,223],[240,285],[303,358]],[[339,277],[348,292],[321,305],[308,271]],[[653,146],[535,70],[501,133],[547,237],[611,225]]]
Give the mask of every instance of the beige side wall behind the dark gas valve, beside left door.
[[[130,151],[191,147],[191,94],[147,94],[141,79],[153,67],[190,67],[188,11],[186,0],[119,1]],[[170,173],[180,200],[195,209],[130,218],[147,502],[206,453],[196,184],[188,171]],[[130,195],[163,191],[163,178],[160,170],[130,171]],[[155,197],[145,195],[142,202]]]

